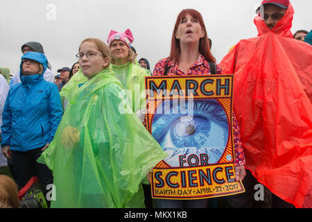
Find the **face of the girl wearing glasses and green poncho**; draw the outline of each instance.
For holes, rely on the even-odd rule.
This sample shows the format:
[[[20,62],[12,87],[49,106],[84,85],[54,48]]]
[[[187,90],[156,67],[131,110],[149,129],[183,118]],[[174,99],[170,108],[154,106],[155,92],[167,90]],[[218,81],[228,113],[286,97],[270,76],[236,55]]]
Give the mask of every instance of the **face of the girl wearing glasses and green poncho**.
[[[79,65],[83,74],[88,79],[99,74],[109,63],[109,59],[98,51],[98,47],[94,42],[83,42],[80,45],[79,53],[85,55],[79,60]]]

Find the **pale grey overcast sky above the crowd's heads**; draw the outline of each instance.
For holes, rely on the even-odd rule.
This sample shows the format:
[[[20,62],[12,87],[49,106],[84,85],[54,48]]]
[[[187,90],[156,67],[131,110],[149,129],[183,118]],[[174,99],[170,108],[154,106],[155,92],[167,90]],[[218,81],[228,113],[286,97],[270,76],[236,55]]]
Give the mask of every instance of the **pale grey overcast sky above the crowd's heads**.
[[[104,42],[110,30],[130,28],[138,59],[147,58],[151,71],[169,55],[175,19],[184,8],[198,10],[220,62],[241,39],[257,36],[253,19],[261,0],[0,0],[0,67],[19,69],[21,45],[40,42],[52,71],[76,62],[80,42],[96,37]],[[311,30],[312,1],[291,0],[293,33]]]

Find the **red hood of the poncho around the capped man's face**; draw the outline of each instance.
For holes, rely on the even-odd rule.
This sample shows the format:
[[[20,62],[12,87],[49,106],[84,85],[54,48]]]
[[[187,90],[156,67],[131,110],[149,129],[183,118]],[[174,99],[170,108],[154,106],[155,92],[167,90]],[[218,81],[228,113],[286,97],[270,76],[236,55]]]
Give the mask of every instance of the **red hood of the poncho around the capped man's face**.
[[[275,33],[277,35],[282,35],[284,37],[288,37],[293,39],[293,33],[291,33],[291,27],[293,26],[293,15],[295,11],[293,10],[293,6],[289,3],[288,9],[285,12],[284,17],[282,17],[279,22],[277,22],[276,26],[270,30],[268,26],[261,19],[260,14],[254,18],[254,24],[257,26],[257,30],[259,32],[258,36],[265,35],[266,33]]]

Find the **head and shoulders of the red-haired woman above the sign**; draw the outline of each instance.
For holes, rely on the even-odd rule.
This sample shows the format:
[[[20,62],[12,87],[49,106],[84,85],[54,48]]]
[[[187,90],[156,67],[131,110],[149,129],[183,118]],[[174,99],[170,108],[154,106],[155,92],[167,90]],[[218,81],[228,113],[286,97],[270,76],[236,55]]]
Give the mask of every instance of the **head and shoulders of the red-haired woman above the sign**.
[[[215,74],[221,74],[221,67],[212,64],[214,62],[202,15],[196,10],[184,9],[175,22],[170,56],[157,62],[153,75],[207,75],[211,74],[209,63],[214,66],[212,69],[216,68]]]

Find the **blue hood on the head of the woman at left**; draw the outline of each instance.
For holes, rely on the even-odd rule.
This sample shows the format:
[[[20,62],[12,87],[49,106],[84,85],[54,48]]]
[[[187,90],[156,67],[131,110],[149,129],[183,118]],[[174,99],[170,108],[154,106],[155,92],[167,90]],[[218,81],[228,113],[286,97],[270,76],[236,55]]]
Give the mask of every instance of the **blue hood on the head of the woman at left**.
[[[44,56],[44,54],[36,53],[34,51],[30,51],[28,53],[25,53],[23,56],[21,56],[21,60],[23,60],[25,58],[39,62],[44,68],[44,70],[42,71],[42,74],[44,74],[44,72],[46,71],[46,69],[48,67],[48,60],[46,59],[46,56]],[[33,75],[33,76],[22,76],[22,74],[21,74],[22,73],[22,71],[21,71],[22,65],[23,65],[23,62],[21,61],[21,64],[19,65],[19,77],[21,78],[22,83],[24,82],[23,79],[25,79],[26,83],[31,83],[33,81],[43,79],[42,74],[37,74],[37,75]]]

